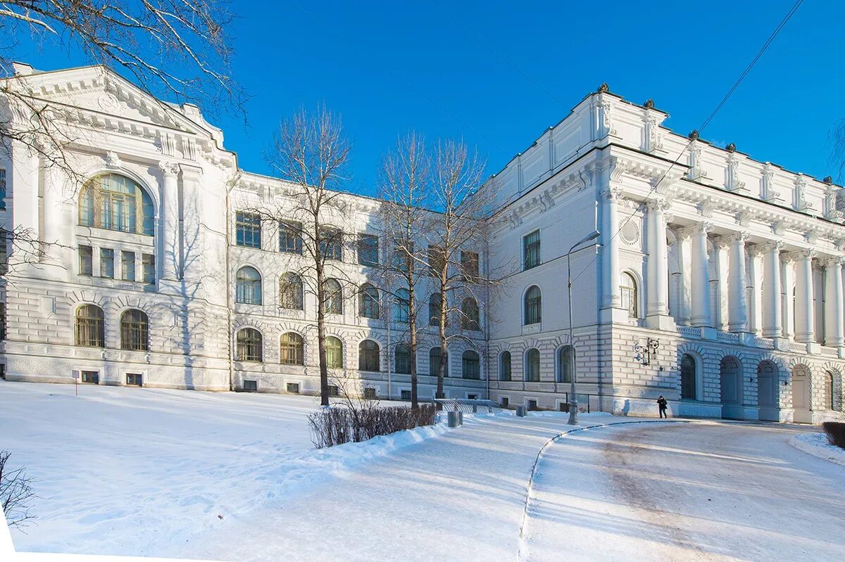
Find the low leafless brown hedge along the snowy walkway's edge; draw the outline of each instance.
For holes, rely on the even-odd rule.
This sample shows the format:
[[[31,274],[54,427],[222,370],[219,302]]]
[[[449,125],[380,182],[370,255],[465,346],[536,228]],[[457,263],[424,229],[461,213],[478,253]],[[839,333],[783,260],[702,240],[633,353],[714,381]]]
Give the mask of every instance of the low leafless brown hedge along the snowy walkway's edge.
[[[435,421],[433,404],[420,404],[419,408],[412,409],[405,406],[379,408],[378,403],[360,402],[322,408],[308,416],[311,440],[318,449],[433,425]]]

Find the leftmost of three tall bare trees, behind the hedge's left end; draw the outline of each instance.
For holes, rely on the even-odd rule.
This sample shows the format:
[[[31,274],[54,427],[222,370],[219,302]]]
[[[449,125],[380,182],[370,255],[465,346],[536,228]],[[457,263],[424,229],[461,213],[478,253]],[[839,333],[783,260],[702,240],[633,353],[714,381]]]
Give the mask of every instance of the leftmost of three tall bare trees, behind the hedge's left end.
[[[348,197],[341,190],[347,185],[349,152],[338,116],[324,107],[313,113],[300,109],[281,123],[268,153],[270,165],[289,182],[284,202],[252,210],[264,222],[290,230],[286,235],[292,235],[297,240],[294,244],[299,245],[292,252],[302,256],[297,257],[297,275],[317,297],[320,403],[324,406],[329,405],[327,307],[334,307],[341,299],[335,284],[327,282],[342,279],[346,283],[340,263],[350,240],[342,223],[351,211]]]

